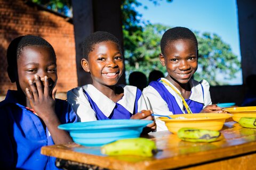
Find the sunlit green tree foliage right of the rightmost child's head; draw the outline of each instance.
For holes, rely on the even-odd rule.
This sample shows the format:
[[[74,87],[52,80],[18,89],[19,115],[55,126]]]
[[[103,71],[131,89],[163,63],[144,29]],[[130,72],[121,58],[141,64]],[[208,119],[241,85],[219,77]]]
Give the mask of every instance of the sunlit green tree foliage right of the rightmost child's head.
[[[202,36],[199,36],[198,32],[195,34],[199,50],[198,71],[195,73],[195,79],[206,79],[211,85],[216,86],[225,84],[218,79],[217,74],[225,75],[225,80],[235,78],[241,63],[230,46],[214,33],[204,32]]]

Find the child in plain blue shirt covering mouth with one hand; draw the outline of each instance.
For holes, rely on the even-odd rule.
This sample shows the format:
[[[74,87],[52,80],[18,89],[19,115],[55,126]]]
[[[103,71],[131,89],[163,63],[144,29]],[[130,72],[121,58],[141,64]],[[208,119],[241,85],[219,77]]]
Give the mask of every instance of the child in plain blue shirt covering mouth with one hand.
[[[76,122],[77,116],[67,101],[55,99],[54,49],[41,37],[21,36],[9,45],[7,62],[10,80],[18,90],[8,90],[0,103],[1,167],[57,169],[55,159],[41,155],[41,148],[72,142],[57,127]]]

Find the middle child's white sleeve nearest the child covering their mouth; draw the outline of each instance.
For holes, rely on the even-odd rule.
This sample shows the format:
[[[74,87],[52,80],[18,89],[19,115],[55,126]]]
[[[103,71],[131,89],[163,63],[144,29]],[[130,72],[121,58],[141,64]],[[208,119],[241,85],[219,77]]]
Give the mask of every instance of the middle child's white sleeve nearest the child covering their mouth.
[[[78,116],[78,121],[97,121],[96,113],[93,111],[82,87],[77,87],[67,92],[68,103],[72,106]]]

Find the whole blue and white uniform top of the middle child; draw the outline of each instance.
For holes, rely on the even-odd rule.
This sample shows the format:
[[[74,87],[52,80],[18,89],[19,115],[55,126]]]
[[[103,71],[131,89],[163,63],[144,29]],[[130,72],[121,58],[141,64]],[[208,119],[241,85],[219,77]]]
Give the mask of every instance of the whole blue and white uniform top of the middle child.
[[[130,119],[133,114],[148,108],[142,92],[137,87],[120,87],[124,90],[124,96],[116,103],[92,84],[68,91],[67,98],[81,122]]]

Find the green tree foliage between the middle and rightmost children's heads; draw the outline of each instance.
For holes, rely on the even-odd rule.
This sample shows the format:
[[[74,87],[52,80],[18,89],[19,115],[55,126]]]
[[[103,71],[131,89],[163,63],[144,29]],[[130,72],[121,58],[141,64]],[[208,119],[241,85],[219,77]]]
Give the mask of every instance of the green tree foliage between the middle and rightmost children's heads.
[[[152,70],[165,72],[165,68],[158,59],[160,41],[163,33],[169,27],[161,24],[147,24],[142,29],[141,39],[134,49],[125,49],[126,75],[132,71],[141,71],[149,74]]]

